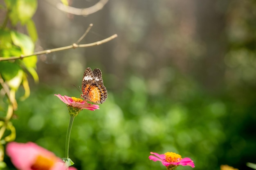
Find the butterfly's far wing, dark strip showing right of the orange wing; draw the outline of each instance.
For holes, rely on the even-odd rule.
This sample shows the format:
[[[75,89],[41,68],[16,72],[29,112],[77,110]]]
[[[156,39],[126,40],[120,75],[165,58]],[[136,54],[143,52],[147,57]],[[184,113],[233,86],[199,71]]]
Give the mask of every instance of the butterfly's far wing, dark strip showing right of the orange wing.
[[[95,81],[95,83],[98,85],[100,89],[100,97],[101,97],[100,103],[103,103],[108,98],[108,92],[106,87],[103,85],[101,70],[99,70],[99,68],[94,69],[93,75],[94,75],[93,80]]]

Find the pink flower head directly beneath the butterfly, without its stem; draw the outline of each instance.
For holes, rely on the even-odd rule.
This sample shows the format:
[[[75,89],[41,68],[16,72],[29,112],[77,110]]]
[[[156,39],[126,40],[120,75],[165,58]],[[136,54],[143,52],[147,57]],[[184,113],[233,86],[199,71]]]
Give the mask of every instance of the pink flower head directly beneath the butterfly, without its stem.
[[[86,100],[82,100],[80,98],[69,97],[69,96],[61,96],[60,94],[54,94],[57,96],[61,101],[65,104],[70,105],[72,107],[77,107],[80,109],[88,109],[88,110],[95,110],[99,109],[99,105],[91,105]]]

